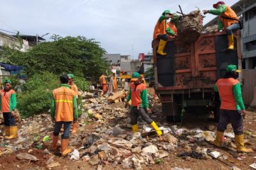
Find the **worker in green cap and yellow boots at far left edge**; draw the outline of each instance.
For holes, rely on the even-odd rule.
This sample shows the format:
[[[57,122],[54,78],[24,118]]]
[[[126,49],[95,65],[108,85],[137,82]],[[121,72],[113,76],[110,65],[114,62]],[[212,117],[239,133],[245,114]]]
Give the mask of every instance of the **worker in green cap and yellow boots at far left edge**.
[[[9,140],[14,139],[17,137],[18,127],[11,113],[16,108],[16,92],[11,88],[11,80],[4,80],[4,89],[1,89],[0,97],[0,108],[4,117],[5,138]]]

